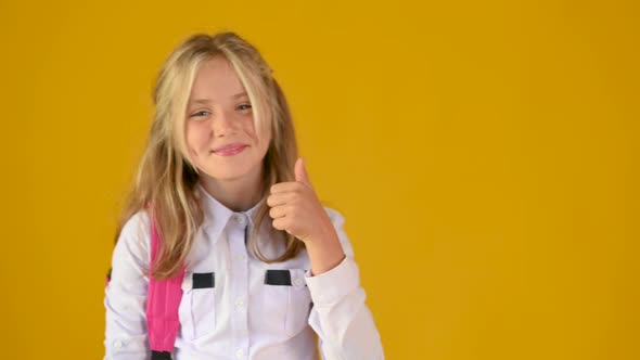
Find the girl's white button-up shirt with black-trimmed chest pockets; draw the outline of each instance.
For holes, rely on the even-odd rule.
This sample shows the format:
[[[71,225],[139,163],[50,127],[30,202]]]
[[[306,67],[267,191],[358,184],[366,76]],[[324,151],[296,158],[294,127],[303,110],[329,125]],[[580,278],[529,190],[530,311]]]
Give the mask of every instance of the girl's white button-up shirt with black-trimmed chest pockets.
[[[346,257],[328,272],[310,277],[306,249],[276,263],[263,262],[247,249],[245,231],[253,229],[258,205],[234,213],[200,184],[196,189],[205,216],[185,261],[174,359],[311,360],[318,358],[313,332],[323,359],[384,359],[340,213],[324,208]],[[263,254],[273,258],[283,253],[284,244],[265,235],[269,220],[263,221],[267,228],[261,227],[258,242]],[[150,242],[149,215],[139,211],[125,223],[113,253],[104,299],[105,359],[151,357],[145,318]],[[287,271],[290,285],[266,284],[268,270]],[[193,288],[193,279],[203,277],[214,277],[214,286],[209,281],[208,287]]]

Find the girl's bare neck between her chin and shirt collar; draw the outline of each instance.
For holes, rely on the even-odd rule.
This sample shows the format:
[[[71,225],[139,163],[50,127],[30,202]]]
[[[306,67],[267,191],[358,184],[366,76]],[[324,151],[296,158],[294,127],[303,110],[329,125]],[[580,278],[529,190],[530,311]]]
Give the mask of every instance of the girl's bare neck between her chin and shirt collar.
[[[261,173],[233,180],[216,180],[202,173],[199,181],[209,195],[233,211],[246,211],[263,198]]]

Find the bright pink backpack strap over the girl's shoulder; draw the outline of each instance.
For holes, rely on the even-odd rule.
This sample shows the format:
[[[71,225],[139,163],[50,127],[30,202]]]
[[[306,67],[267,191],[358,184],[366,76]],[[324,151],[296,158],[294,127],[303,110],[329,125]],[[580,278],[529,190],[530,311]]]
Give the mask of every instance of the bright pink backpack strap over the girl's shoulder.
[[[151,213],[151,211],[150,211]],[[155,263],[162,246],[162,239],[157,232],[155,219],[151,217],[151,265]],[[184,265],[176,277],[156,280],[149,275],[146,294],[146,330],[151,347],[151,360],[170,360],[180,319],[178,308],[182,299],[182,279]]]

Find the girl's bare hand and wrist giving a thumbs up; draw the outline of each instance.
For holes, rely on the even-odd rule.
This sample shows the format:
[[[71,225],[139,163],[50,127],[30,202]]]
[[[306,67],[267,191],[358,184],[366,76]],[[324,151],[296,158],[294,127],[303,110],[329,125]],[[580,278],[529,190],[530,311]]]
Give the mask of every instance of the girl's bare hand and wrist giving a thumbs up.
[[[307,245],[337,239],[331,219],[316,196],[303,158],[296,160],[294,172],[295,181],[272,185],[267,197],[273,228],[286,231]]]

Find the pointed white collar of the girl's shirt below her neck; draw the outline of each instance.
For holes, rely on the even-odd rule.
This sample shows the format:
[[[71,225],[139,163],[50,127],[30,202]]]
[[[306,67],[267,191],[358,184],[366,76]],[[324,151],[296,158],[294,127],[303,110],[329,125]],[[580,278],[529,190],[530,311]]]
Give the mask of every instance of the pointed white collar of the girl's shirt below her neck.
[[[204,211],[204,221],[202,226],[214,243],[218,241],[222,230],[225,230],[229,220],[232,220],[234,216],[244,214],[248,219],[248,223],[252,227],[254,226],[253,217],[263,201],[259,201],[254,207],[246,211],[233,211],[212,196],[200,182],[196,184],[196,189],[200,193],[200,200]]]

